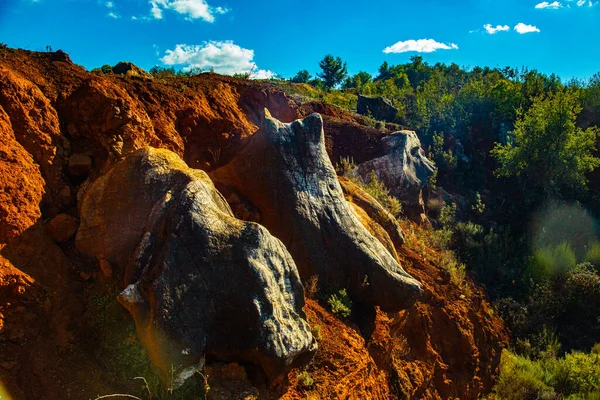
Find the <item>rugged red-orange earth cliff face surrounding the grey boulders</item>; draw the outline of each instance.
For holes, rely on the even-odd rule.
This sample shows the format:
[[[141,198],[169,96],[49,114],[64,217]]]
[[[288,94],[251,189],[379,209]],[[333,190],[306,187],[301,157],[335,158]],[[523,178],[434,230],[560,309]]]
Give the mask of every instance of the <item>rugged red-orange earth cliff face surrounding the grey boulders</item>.
[[[72,225],[85,189],[145,146],[171,150],[207,172],[224,166],[262,124],[265,107],[283,122],[323,114],[334,162],[383,155],[382,132],[334,107],[300,104],[268,83],[215,74],[96,75],[60,52],[0,53],[0,382],[14,398],[124,390],[110,381],[89,339],[96,293],[123,283],[115,283],[119,271],[75,248]],[[357,214],[365,226],[378,226],[365,222],[368,213]],[[390,242],[423,285],[422,298],[396,313],[367,308],[360,328],[308,300],[308,322],[321,329],[308,366],[314,384],[305,387],[292,371],[259,388],[263,396],[478,398],[490,390],[506,340],[500,320],[480,289],[462,293],[435,251],[407,235],[411,240],[410,248]]]

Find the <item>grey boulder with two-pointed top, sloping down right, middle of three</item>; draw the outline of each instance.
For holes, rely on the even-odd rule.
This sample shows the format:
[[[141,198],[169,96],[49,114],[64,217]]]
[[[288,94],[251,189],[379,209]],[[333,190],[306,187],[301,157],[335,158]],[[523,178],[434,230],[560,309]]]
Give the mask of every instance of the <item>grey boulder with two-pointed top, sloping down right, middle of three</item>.
[[[321,116],[284,124],[265,114],[246,147],[211,173],[216,184],[259,210],[303,280],[316,275],[323,286],[346,288],[355,300],[384,310],[410,307],[421,285],[349,208],[325,150]]]

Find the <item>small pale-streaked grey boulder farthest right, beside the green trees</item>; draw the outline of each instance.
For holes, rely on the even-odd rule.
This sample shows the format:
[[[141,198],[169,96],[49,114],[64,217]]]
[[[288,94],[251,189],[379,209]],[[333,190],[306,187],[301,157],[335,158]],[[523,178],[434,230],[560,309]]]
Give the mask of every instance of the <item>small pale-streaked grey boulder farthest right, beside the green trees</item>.
[[[358,174],[368,180],[371,171],[402,202],[405,213],[421,222],[425,209],[422,189],[435,171],[425,157],[421,141],[413,131],[398,131],[381,139],[385,155],[358,165]]]

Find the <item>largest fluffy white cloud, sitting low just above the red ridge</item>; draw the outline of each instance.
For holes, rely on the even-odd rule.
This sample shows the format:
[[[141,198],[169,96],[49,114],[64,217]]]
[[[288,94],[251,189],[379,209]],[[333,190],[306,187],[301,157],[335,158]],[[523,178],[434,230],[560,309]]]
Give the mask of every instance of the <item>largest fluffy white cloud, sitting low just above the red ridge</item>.
[[[225,75],[248,73],[252,79],[269,79],[275,74],[258,69],[254,63],[254,50],[244,49],[232,41],[210,41],[201,45],[178,44],[167,50],[160,59],[166,65],[182,65],[191,69],[214,69]]]

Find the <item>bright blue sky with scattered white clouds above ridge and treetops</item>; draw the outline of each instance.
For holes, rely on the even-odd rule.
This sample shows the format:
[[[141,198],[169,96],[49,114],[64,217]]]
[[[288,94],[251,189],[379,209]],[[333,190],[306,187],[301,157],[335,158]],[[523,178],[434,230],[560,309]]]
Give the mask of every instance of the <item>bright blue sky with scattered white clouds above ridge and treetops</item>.
[[[62,49],[88,69],[131,61],[255,76],[351,73],[383,61],[528,66],[563,79],[600,71],[598,0],[0,0],[0,42]],[[387,50],[386,50],[387,49]],[[384,53],[384,50],[387,53]],[[433,50],[433,51],[432,51]]]

